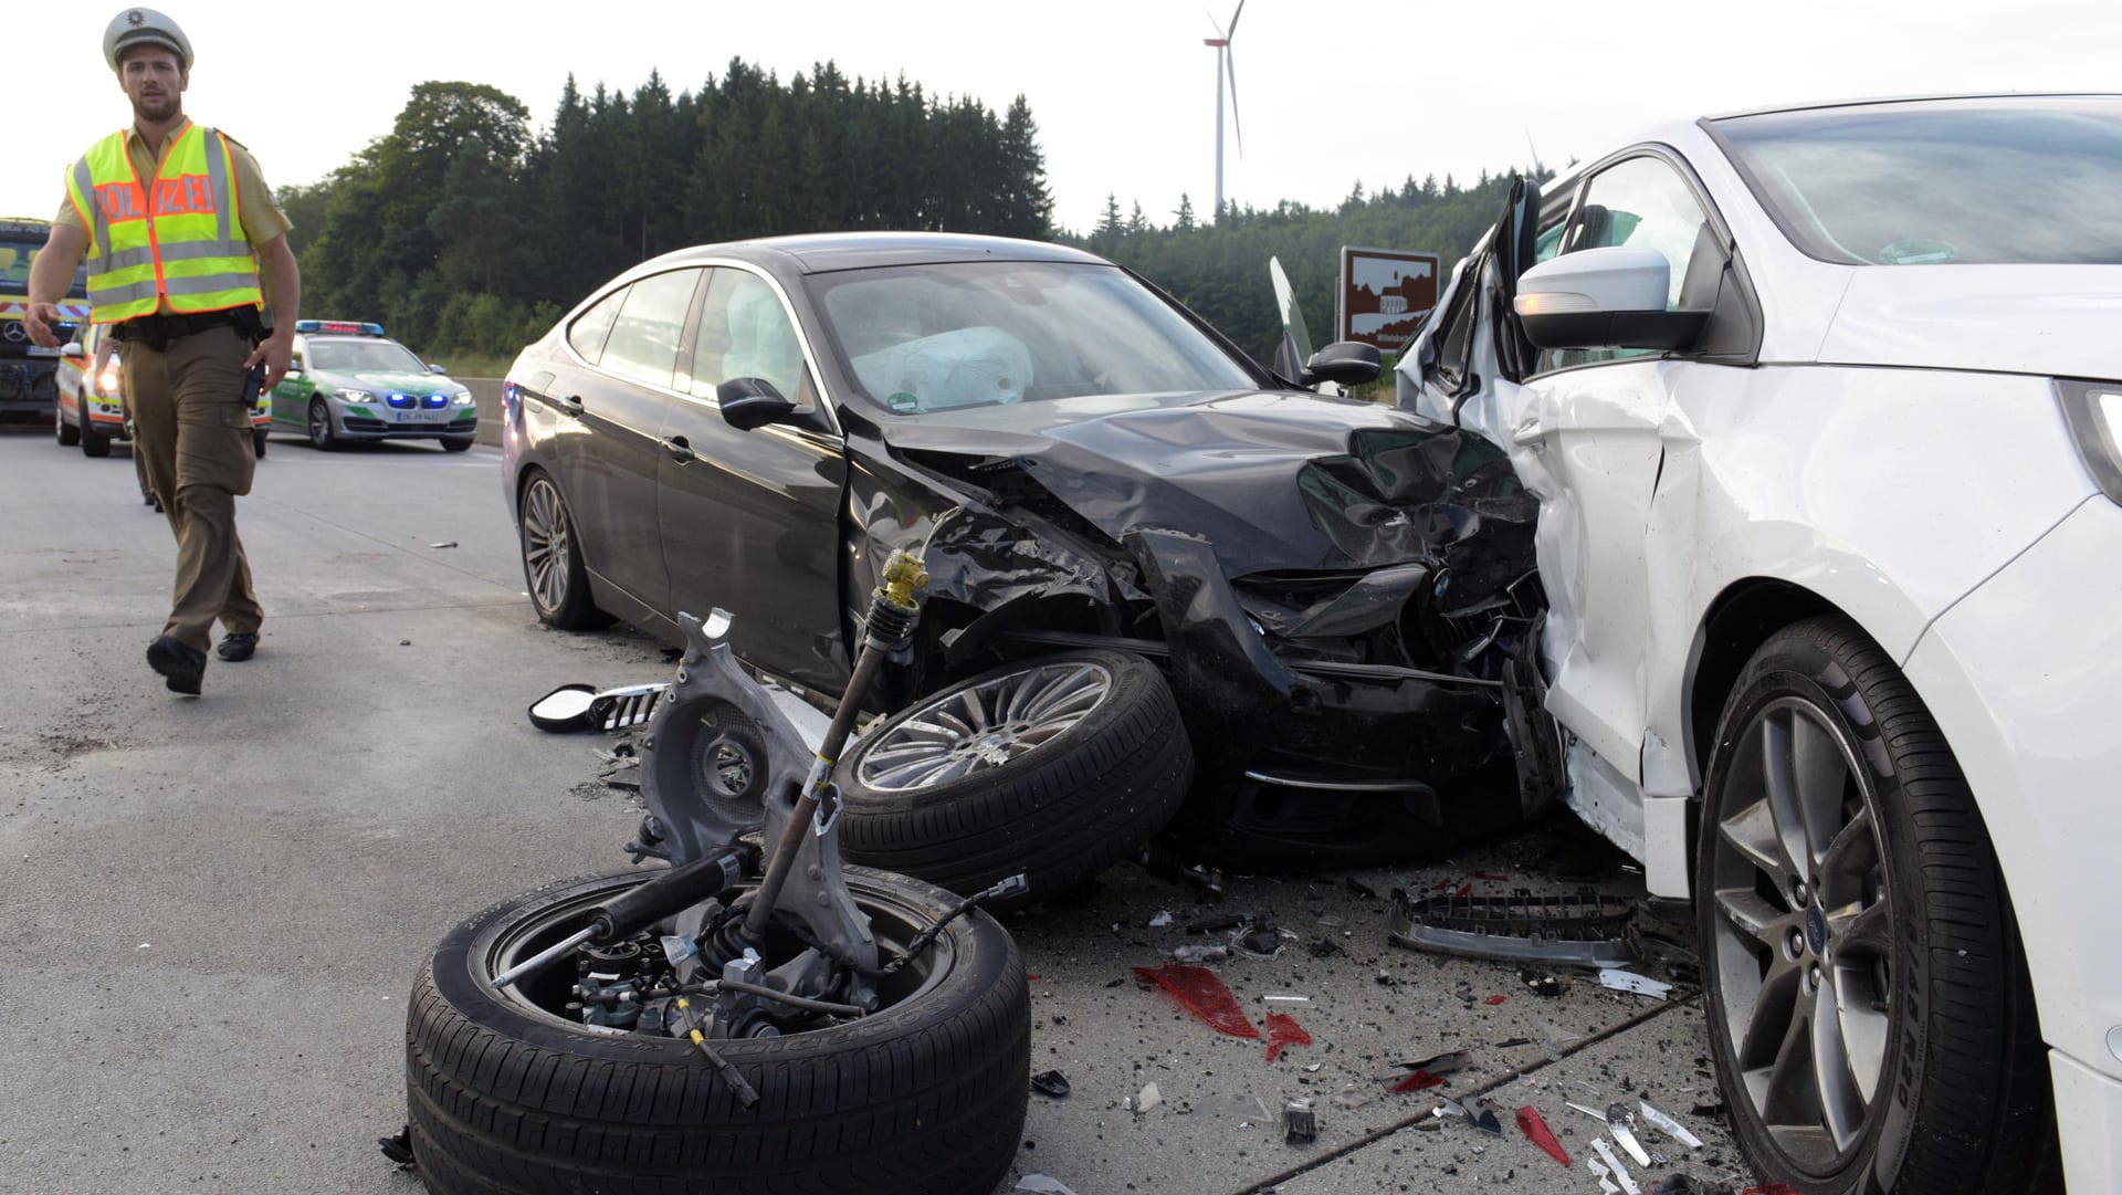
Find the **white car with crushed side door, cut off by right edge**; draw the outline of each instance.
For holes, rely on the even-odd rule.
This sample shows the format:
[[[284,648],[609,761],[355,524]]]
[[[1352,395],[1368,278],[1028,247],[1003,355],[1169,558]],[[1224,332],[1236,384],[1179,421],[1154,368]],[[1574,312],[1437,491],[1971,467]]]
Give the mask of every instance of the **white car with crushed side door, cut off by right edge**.
[[[1766,1180],[2122,1191],[2118,195],[2114,96],[1674,123],[1398,367],[1541,499],[1566,800],[1693,898]]]

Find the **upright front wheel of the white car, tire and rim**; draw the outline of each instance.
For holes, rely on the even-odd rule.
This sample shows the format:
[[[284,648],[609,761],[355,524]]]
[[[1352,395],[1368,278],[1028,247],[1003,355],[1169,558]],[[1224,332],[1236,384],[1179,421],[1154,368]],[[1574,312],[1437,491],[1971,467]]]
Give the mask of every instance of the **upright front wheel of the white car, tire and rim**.
[[[2046,1053],[1952,749],[1857,626],[1776,633],[1717,726],[1695,913],[1755,1172],[1812,1193],[2033,1191]]]

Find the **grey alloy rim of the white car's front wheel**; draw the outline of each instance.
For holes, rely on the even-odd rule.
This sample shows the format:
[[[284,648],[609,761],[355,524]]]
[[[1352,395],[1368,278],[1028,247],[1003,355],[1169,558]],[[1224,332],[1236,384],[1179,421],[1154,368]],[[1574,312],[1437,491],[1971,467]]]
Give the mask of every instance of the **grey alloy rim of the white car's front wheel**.
[[[1738,741],[1712,838],[1721,1029],[1753,1112],[1808,1174],[1855,1155],[1893,1040],[1893,911],[1859,745],[1804,698]]]

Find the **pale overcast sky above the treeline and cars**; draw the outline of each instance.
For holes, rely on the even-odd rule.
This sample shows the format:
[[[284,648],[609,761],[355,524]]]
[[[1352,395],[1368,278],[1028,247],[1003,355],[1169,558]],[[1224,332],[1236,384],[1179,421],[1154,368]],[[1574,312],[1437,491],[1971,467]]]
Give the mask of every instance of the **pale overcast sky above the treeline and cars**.
[[[1212,4],[1227,21],[1233,0]],[[8,32],[0,214],[49,217],[64,168],[129,121],[100,49],[121,8],[34,8]],[[904,72],[997,112],[1023,93],[1055,219],[1076,231],[1108,191],[1152,223],[1171,221],[1182,191],[1201,212],[1216,191],[1216,55],[1201,45],[1214,30],[1193,0],[170,0],[163,11],[197,53],[185,110],[248,144],[276,187],[314,183],[390,132],[420,81],[490,83],[543,125],[569,72],[586,91],[598,81],[632,91],[660,70],[681,91],[736,55],[783,81],[825,59],[870,81]],[[1248,0],[1233,51],[1246,153],[1229,132],[1227,195],[1330,206],[1356,180],[1521,166],[1528,144],[1560,166],[1670,115],[2122,89],[2122,4]]]

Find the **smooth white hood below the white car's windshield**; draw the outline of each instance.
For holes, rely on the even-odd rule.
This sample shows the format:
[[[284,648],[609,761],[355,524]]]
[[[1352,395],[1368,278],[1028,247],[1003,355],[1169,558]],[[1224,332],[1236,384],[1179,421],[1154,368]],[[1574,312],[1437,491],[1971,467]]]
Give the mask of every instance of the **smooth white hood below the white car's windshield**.
[[[1850,272],[1823,365],[2122,378],[2122,265]]]

